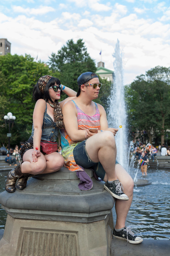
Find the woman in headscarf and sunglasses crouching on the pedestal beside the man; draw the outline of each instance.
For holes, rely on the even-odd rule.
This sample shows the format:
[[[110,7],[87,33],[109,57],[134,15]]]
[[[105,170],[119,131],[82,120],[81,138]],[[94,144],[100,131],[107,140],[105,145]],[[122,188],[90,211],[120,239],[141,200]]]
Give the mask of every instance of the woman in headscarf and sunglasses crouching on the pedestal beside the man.
[[[59,103],[62,91],[70,98]],[[33,99],[36,104],[33,112],[32,134],[21,148],[22,162],[8,174],[6,191],[15,191],[18,178],[16,187],[24,189],[28,177],[40,173],[56,172],[64,165],[64,158],[61,154],[57,152],[44,153],[40,142],[56,142],[59,129],[64,128],[61,108],[66,101],[75,96],[75,91],[61,85],[60,80],[56,77],[44,75],[39,78],[33,90]]]

